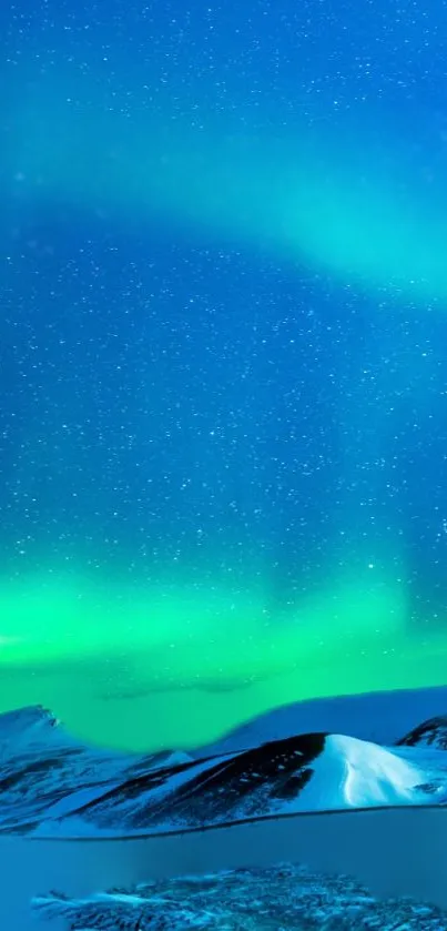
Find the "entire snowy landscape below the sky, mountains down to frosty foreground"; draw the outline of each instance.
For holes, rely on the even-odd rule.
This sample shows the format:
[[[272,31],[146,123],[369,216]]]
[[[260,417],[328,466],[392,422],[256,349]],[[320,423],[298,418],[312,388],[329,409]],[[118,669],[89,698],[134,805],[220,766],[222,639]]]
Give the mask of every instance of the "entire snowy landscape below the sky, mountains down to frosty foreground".
[[[447,931],[428,905],[323,878],[447,908],[445,712],[447,688],[303,702],[148,756],[79,745],[41,708],[2,715],[0,928],[33,927],[33,899],[54,931]]]

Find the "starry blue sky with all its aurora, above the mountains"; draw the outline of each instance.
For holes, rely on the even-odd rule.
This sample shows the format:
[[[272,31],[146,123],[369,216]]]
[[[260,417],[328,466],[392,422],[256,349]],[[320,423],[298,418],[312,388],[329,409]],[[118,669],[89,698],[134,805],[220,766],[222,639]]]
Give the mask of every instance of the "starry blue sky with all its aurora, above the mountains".
[[[0,37],[0,710],[140,749],[445,682],[447,4]]]

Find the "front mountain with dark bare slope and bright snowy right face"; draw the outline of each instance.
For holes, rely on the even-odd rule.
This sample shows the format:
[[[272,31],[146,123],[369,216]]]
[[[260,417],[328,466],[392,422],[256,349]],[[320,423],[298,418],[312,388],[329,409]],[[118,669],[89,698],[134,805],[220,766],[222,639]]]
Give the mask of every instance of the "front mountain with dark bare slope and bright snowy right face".
[[[78,803],[77,803],[78,799]],[[342,735],[298,735],[162,767],[47,810],[39,837],[135,837],[297,812],[447,801],[447,757],[424,766]]]

